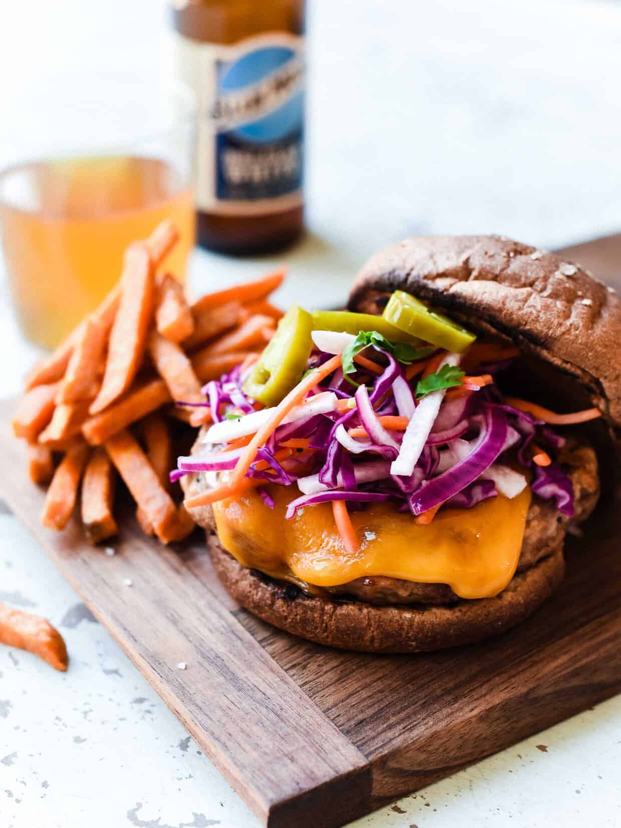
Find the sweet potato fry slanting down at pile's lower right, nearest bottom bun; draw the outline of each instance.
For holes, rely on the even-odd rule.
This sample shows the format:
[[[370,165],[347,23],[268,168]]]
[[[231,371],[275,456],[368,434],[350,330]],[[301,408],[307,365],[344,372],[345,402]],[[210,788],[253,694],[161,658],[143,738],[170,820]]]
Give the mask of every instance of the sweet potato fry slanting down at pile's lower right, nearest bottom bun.
[[[169,532],[176,525],[176,506],[161,485],[137,440],[129,431],[119,431],[106,440],[104,448],[157,537],[166,543]]]

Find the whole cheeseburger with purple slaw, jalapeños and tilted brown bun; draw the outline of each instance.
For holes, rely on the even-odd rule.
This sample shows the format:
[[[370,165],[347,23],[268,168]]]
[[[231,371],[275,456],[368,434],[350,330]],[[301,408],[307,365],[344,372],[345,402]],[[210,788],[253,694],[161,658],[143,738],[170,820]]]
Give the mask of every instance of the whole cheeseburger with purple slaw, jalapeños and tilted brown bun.
[[[291,308],[205,389],[213,425],[176,474],[219,578],[350,650],[522,622],[613,479],[620,341],[614,291],[551,253],[459,236],[376,254],[348,310]]]

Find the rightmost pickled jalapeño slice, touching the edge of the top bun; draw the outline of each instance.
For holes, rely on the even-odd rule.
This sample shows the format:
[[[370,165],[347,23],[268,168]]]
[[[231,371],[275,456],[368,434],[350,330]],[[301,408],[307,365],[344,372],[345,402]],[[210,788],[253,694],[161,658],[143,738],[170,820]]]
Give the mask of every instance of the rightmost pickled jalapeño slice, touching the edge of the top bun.
[[[411,336],[418,336],[426,342],[455,351],[460,354],[476,339],[461,325],[447,319],[424,305],[415,296],[405,291],[395,291],[384,308],[383,319]]]

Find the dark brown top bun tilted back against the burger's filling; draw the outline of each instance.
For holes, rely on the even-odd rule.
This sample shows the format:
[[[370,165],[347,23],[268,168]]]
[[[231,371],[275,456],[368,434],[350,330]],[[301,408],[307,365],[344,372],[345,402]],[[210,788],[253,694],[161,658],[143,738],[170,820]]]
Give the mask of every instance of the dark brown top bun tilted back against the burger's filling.
[[[349,308],[381,313],[395,290],[511,340],[555,369],[567,410],[590,402],[621,426],[621,301],[579,264],[498,236],[421,236],[370,258]],[[535,374],[546,397],[546,372]]]

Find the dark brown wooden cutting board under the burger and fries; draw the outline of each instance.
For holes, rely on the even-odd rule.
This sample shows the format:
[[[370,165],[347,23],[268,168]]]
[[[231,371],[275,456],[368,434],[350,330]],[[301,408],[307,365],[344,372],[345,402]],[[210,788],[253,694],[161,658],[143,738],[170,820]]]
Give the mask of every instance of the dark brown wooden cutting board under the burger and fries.
[[[0,497],[267,826],[342,826],[621,691],[621,488],[568,539],[566,580],[526,623],[448,652],[361,655],[254,619],[198,533],[160,546],[129,503],[113,557],[77,522],[41,527],[11,410]]]

